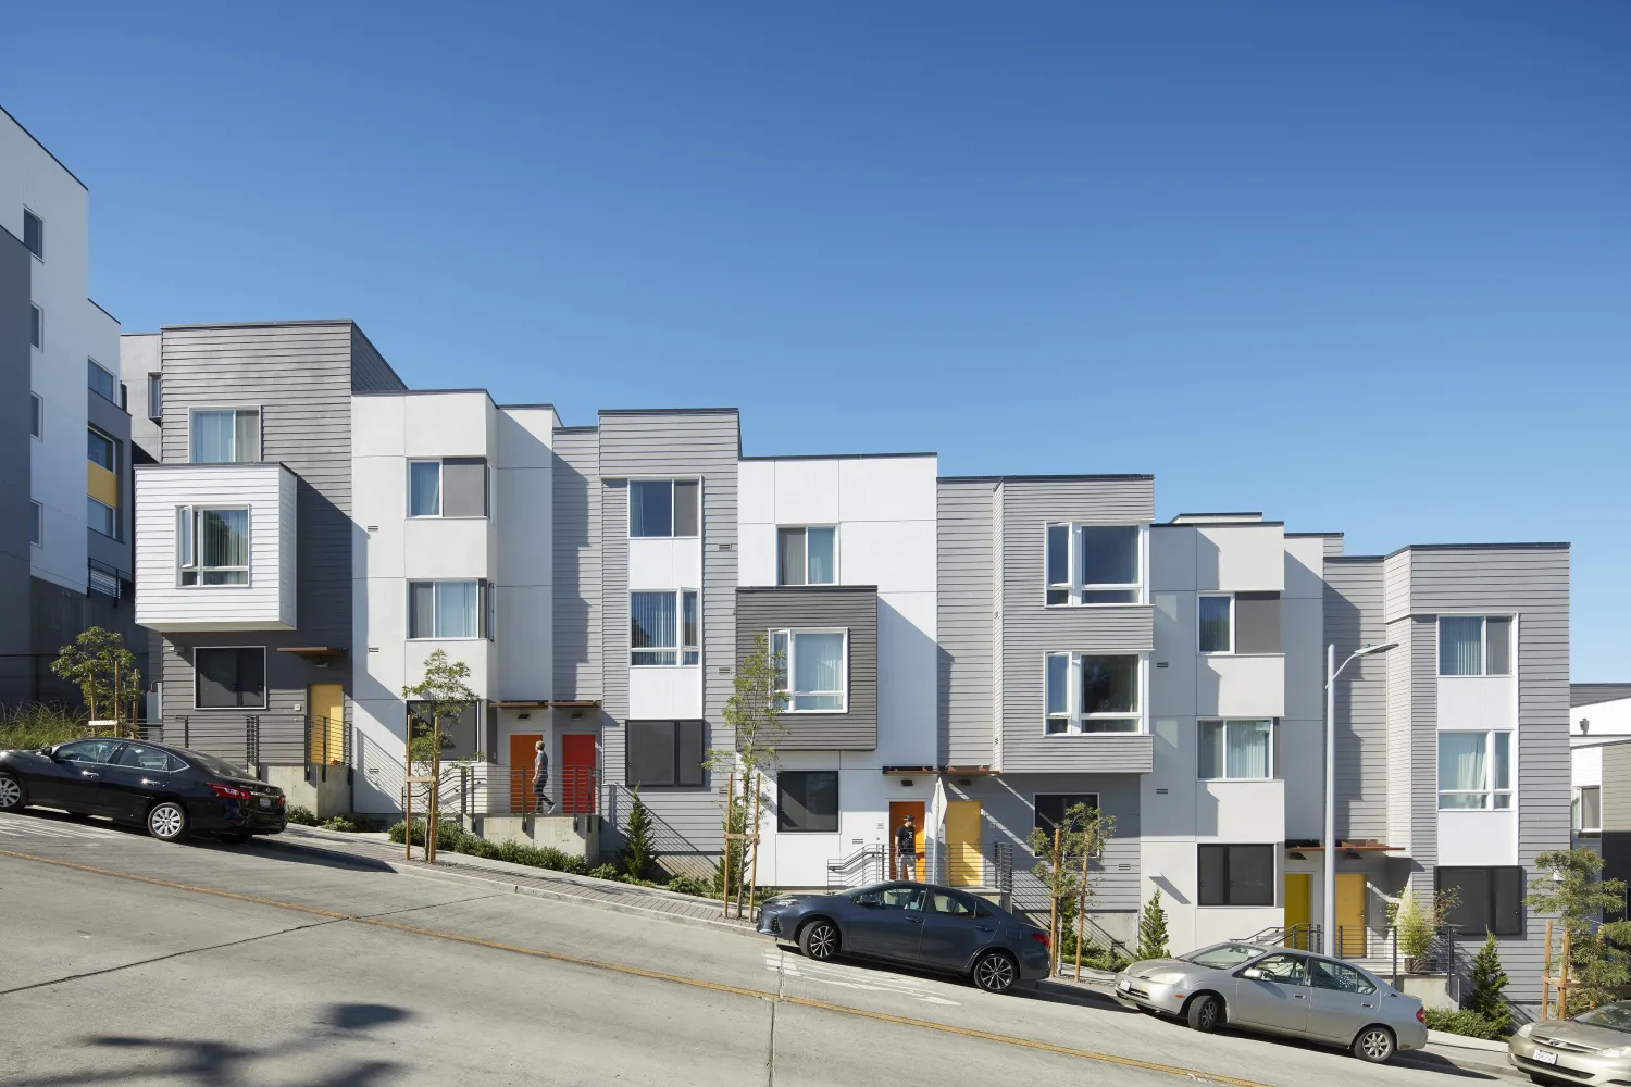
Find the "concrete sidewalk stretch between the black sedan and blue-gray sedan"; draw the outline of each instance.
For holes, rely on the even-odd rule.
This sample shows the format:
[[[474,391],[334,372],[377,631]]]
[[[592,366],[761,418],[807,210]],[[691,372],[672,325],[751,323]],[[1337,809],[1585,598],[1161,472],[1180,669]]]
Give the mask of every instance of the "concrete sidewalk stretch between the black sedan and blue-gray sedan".
[[[290,823],[289,830],[282,834],[256,838],[254,843],[258,846],[271,846],[272,849],[321,849],[325,852],[351,854],[383,862],[398,872],[445,872],[502,883],[522,895],[558,898],[581,906],[599,906],[602,909],[661,918],[664,921],[677,921],[680,924],[701,926],[739,935],[752,934],[752,926],[747,921],[724,918],[724,908],[718,898],[696,898],[657,887],[595,880],[587,875],[551,872],[550,869],[535,869],[509,860],[489,860],[462,852],[437,852],[435,864],[431,865],[422,859],[422,846],[416,846],[413,849],[414,859],[408,860],[401,844],[382,841],[382,834],[351,834]]]

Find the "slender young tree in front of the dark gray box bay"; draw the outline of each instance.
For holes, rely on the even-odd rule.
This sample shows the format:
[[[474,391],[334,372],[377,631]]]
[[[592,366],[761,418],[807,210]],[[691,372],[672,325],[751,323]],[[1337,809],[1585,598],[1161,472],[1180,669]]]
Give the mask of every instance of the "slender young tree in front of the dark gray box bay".
[[[742,779],[742,797],[726,799],[726,851],[724,864],[731,867],[731,887],[721,887],[726,896],[737,898],[737,916],[742,913],[742,895],[750,895],[750,880],[744,869],[757,867],[758,813],[768,805],[765,781],[776,772],[776,745],[788,733],[781,722],[786,707],[786,657],[773,652],[763,634],[754,639],[754,652],[736,667],[731,698],[724,704],[724,724],[731,727],[734,745],[709,751],[708,763],[714,772],[734,772]],[[740,812],[736,805],[740,803]],[[737,830],[740,826],[742,830]],[[744,834],[744,838],[729,838]],[[734,851],[732,843],[744,847]]]

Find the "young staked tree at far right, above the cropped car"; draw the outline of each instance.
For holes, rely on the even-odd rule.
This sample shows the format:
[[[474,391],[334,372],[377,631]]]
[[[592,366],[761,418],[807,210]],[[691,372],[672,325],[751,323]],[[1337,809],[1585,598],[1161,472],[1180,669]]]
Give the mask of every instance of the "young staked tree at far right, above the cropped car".
[[[1554,849],[1535,857],[1540,872],[1523,901],[1558,914],[1569,939],[1566,1015],[1613,1001],[1613,989],[1631,981],[1631,921],[1597,919],[1624,908],[1624,880],[1602,877],[1603,859],[1590,849]]]

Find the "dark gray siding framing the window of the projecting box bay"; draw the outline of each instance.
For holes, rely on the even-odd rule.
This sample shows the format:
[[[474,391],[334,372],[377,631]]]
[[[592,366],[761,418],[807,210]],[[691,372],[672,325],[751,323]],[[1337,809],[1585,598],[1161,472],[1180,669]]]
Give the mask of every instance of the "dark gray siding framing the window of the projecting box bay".
[[[877,590],[739,588],[736,660],[771,629],[845,627],[850,632],[850,699],[843,714],[785,714],[783,751],[871,751],[877,746]]]

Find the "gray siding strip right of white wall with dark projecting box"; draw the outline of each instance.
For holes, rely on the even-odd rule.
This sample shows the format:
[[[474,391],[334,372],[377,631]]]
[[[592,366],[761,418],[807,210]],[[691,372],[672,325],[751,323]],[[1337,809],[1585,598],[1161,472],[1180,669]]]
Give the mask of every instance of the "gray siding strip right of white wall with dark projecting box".
[[[995,743],[993,482],[939,484],[939,764],[988,766]]]

